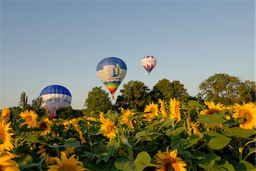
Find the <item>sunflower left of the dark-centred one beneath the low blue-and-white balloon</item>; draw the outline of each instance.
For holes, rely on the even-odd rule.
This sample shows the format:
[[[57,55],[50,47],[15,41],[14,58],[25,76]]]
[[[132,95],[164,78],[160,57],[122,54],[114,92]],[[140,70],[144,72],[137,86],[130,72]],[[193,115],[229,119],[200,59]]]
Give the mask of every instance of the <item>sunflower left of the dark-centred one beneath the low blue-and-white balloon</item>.
[[[26,110],[23,112],[20,112],[19,116],[21,119],[24,119],[25,122],[22,123],[20,126],[23,126],[24,124],[28,124],[28,128],[35,127],[36,126],[36,119],[38,119],[38,114],[35,113],[33,110]]]

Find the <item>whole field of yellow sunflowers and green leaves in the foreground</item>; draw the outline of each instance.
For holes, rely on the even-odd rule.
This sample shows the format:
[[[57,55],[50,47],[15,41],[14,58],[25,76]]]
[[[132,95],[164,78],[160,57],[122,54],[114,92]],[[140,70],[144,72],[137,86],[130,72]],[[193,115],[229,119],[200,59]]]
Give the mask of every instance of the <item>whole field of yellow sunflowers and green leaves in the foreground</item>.
[[[72,120],[5,108],[0,170],[255,170],[255,103],[149,103]]]

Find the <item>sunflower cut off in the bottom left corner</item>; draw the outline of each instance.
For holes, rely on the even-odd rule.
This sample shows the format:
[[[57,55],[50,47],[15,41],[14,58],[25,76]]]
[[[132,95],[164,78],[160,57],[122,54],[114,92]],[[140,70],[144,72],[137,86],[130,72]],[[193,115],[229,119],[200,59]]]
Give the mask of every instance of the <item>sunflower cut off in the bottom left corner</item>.
[[[18,157],[10,152],[0,152],[0,170],[2,171],[20,171],[16,161],[12,160]]]

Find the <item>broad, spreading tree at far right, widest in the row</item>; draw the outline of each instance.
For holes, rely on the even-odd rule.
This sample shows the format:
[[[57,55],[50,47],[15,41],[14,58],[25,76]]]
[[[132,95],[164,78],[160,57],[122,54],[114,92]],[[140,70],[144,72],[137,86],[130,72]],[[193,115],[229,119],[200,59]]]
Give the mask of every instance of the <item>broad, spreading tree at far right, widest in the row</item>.
[[[199,90],[205,101],[220,102],[226,105],[253,100],[249,88],[240,78],[223,73],[214,74],[201,82]]]

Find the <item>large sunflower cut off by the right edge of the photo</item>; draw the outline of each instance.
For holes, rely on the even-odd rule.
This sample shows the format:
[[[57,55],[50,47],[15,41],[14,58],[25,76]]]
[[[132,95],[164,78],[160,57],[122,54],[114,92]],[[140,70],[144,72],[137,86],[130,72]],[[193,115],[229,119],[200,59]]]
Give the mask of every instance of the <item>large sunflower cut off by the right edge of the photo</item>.
[[[240,122],[239,127],[245,128],[245,129],[254,129],[256,128],[256,109],[255,104],[250,103],[244,103],[243,105],[236,105],[234,106],[234,114],[233,118],[243,118],[242,122]]]

